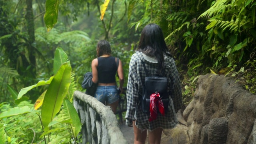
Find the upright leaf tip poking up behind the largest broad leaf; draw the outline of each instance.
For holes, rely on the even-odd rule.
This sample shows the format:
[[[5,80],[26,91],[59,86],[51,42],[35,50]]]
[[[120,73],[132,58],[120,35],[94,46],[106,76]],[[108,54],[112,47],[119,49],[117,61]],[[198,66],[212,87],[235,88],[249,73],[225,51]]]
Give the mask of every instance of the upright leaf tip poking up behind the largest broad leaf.
[[[54,74],[56,74],[60,66],[65,62],[68,62],[68,64],[70,65],[70,62],[68,61],[68,55],[62,50],[62,48],[56,48],[53,61]]]

